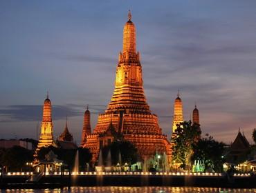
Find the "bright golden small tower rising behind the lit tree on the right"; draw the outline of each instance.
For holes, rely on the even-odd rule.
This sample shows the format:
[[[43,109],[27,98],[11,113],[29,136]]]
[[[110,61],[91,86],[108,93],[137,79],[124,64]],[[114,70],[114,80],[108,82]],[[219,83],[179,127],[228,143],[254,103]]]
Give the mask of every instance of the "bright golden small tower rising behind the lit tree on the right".
[[[174,116],[172,120],[172,134],[174,134],[177,124],[183,122],[183,108],[180,94],[178,91],[177,98],[174,101]]]

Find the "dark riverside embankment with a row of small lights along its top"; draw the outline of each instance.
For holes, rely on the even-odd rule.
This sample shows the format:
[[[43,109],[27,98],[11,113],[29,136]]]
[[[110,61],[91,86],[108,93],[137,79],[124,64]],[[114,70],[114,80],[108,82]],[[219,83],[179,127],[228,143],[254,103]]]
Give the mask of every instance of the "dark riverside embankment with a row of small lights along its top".
[[[218,173],[143,173],[143,172],[90,172],[79,174],[44,174],[34,182],[26,182],[29,175],[3,175],[1,189],[60,188],[70,186],[190,186],[190,187],[256,187],[256,176],[235,174],[228,177]]]

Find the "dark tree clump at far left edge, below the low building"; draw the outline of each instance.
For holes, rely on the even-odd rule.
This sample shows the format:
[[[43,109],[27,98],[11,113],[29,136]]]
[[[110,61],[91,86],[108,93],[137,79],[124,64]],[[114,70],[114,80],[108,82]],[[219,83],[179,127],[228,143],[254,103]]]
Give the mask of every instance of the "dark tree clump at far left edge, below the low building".
[[[33,151],[20,146],[0,150],[0,165],[8,167],[8,171],[17,172],[33,161]]]

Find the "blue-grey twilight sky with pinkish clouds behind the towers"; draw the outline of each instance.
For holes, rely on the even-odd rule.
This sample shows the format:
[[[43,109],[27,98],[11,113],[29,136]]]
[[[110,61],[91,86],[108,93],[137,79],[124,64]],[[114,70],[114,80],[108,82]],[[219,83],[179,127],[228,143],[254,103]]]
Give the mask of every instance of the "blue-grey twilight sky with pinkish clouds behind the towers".
[[[0,1],[0,138],[37,137],[49,91],[54,134],[80,143],[111,99],[131,9],[147,102],[170,136],[181,92],[201,129],[230,143],[256,128],[256,1]],[[39,131],[38,131],[39,132]]]

